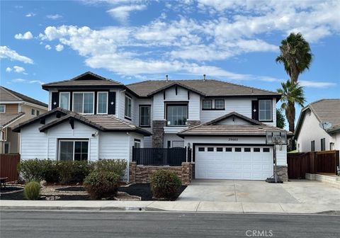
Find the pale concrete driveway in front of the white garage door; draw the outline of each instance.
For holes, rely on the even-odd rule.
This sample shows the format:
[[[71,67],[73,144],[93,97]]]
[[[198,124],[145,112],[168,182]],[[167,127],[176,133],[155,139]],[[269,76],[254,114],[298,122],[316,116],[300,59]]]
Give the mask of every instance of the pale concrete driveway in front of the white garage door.
[[[177,200],[228,203],[307,203],[340,205],[340,189],[317,181],[286,183],[196,179]]]

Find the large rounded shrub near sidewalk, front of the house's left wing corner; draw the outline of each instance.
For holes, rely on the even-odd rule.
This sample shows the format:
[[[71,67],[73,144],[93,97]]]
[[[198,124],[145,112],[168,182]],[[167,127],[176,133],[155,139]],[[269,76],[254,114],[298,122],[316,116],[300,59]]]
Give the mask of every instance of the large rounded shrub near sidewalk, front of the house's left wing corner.
[[[93,171],[84,179],[84,187],[93,199],[115,196],[119,183],[120,176],[108,171]]]

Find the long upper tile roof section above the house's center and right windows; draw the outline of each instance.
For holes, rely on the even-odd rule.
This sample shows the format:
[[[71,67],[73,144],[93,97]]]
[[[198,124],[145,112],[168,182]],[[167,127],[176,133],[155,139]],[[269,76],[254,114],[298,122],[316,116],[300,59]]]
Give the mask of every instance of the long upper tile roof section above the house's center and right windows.
[[[188,80],[149,80],[135,84],[128,84],[128,89],[134,91],[139,96],[151,96],[157,91],[166,89],[169,86],[178,84],[179,86],[193,89],[204,96],[277,96],[280,94],[274,91],[256,89],[249,86],[232,84],[226,81],[215,79],[188,79]]]

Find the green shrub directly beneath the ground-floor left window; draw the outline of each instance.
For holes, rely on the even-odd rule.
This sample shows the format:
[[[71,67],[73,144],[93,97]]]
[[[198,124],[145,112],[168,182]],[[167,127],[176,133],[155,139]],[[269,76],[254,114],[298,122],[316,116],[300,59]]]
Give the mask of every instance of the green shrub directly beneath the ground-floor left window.
[[[94,165],[87,161],[57,162],[60,183],[81,182],[94,170]]]

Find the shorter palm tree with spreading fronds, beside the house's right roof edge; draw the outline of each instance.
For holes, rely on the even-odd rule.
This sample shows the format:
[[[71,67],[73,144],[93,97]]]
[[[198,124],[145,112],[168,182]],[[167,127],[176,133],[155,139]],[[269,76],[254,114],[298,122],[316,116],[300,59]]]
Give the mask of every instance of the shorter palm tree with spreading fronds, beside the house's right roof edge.
[[[295,130],[295,103],[303,107],[305,104],[305,94],[303,87],[299,83],[294,83],[289,79],[281,83],[282,88],[278,89],[278,93],[282,94],[280,101],[282,102],[281,108],[285,110],[285,116],[288,120],[289,130]]]

